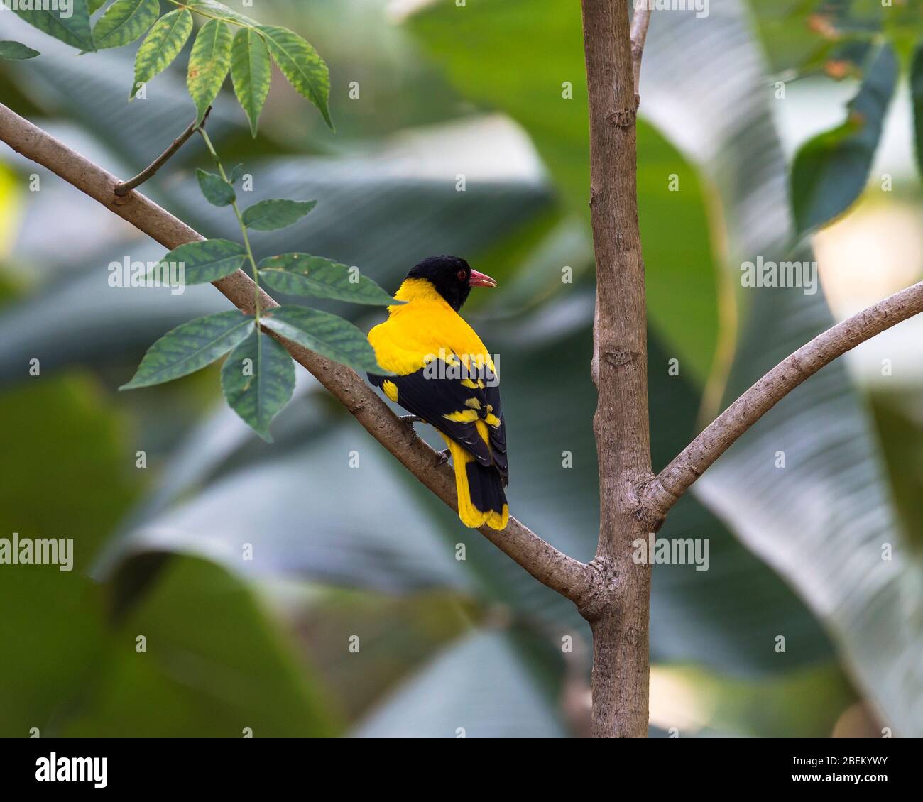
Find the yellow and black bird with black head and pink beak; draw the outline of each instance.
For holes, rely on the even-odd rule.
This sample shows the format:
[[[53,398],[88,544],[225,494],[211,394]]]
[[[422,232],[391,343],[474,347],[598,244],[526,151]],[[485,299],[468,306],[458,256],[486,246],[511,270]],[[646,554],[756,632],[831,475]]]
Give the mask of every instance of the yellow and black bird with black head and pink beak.
[[[465,526],[505,529],[509,504],[507,430],[497,366],[459,310],[473,287],[496,287],[462,257],[426,257],[394,293],[400,304],[368,333],[378,365],[390,376],[369,381],[411,413],[411,425],[434,426],[449,446]]]

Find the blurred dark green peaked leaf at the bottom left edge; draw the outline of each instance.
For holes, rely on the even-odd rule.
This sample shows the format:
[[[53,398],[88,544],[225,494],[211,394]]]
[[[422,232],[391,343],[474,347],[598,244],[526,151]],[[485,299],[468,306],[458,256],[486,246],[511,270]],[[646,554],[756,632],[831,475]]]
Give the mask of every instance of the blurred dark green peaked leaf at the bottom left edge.
[[[255,593],[184,557],[114,626],[59,735],[318,737],[339,728],[313,669]]]

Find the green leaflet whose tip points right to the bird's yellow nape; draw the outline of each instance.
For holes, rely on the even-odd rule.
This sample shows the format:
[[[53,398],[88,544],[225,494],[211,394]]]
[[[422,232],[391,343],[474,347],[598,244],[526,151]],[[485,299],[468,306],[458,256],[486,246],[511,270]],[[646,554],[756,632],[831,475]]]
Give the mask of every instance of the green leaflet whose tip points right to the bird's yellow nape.
[[[265,258],[259,263],[259,277],[273,290],[288,295],[335,298],[373,306],[400,303],[358,269],[309,254]]]

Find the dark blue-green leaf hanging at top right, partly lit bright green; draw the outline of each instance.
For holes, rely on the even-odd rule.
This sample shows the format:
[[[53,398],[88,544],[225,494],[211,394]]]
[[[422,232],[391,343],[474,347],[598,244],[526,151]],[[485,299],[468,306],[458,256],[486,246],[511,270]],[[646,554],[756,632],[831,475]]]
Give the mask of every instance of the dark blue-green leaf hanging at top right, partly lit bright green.
[[[841,215],[865,189],[897,74],[893,49],[882,44],[869,56],[865,79],[847,106],[845,123],[809,139],[798,150],[792,167],[798,234]]]

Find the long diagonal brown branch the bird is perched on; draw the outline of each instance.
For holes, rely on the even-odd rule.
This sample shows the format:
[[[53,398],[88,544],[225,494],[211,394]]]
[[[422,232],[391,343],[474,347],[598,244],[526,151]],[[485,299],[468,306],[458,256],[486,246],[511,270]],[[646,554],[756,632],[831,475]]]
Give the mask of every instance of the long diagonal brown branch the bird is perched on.
[[[197,242],[204,237],[178,220],[149,198],[134,193],[117,198],[117,178],[70,150],[41,128],[0,104],[0,139],[32,162],[42,164],[68,184],[101,203],[106,209],[130,222],[165,248]],[[216,281],[215,286],[238,309],[251,314],[254,283],[243,270]],[[261,293],[261,304],[270,309],[278,304]],[[454,474],[440,464],[440,455],[416,437],[375,392],[350,368],[331,362],[317,353],[282,341],[294,360],[304,366],[330,393],[354,415],[372,437],[402,462],[436,496],[452,509],[458,509]],[[502,532],[488,527],[480,530],[501,551],[515,560],[533,577],[569,598],[579,607],[590,603],[599,585],[593,569],[572,559],[513,518]]]

